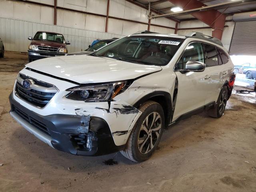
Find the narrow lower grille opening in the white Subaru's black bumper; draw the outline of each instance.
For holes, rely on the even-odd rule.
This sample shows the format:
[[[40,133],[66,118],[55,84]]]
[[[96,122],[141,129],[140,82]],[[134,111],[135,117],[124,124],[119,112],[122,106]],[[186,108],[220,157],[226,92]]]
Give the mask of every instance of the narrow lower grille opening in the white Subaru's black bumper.
[[[27,122],[29,122],[31,125],[33,125],[35,128],[37,128],[38,130],[50,135],[50,132],[48,131],[46,124],[40,122],[39,120],[29,116],[28,114],[22,112],[21,110],[19,110],[18,108],[16,108],[15,106],[13,106],[13,110],[24,120],[26,120]]]

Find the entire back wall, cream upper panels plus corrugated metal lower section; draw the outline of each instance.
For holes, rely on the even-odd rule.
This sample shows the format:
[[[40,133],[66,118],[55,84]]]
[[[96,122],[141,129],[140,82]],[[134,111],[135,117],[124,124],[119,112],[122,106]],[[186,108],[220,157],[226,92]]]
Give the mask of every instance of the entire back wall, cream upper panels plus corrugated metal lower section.
[[[54,0],[32,1],[54,5]],[[107,12],[107,0],[57,0],[57,6],[101,15]],[[69,52],[75,52],[88,48],[97,38],[121,38],[148,29],[148,10],[126,0],[110,0],[107,33],[104,16],[57,9],[57,23],[54,25],[52,7],[17,0],[0,0],[0,7],[0,36],[8,51],[27,52],[30,44],[27,38],[33,37],[38,30],[63,34],[71,42],[68,45]],[[151,24],[166,26],[150,26],[152,32],[174,34],[172,28],[175,28],[176,22],[170,19],[154,19]]]

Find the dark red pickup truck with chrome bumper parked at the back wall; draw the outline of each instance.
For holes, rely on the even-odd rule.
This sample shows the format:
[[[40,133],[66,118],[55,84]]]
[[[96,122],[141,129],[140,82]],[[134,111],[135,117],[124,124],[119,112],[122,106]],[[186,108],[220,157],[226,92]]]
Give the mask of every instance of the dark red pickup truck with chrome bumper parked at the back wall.
[[[54,32],[36,32],[34,38],[28,37],[31,43],[28,47],[28,60],[32,62],[34,60],[63,56],[68,53],[66,45],[69,45],[69,41],[65,41],[64,36]]]

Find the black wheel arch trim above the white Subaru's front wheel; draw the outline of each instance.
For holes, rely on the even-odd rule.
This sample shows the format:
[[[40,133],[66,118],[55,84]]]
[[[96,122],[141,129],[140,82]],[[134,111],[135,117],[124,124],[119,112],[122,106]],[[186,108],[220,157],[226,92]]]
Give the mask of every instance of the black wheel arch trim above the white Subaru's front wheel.
[[[164,100],[159,100],[161,97],[164,97]],[[140,98],[133,106],[138,109],[147,100],[156,101],[162,106],[165,115],[165,126],[168,126],[172,118],[172,97],[170,93],[165,91],[151,92]]]

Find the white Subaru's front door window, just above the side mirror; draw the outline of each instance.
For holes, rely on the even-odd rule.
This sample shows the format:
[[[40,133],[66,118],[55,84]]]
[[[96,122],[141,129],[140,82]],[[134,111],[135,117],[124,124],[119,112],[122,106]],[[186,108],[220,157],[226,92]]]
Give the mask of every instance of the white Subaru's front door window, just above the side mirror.
[[[201,43],[196,42],[189,44],[183,55],[181,56],[180,60],[178,61],[175,69],[184,69],[186,62],[188,62],[189,60],[204,63],[204,51]]]

